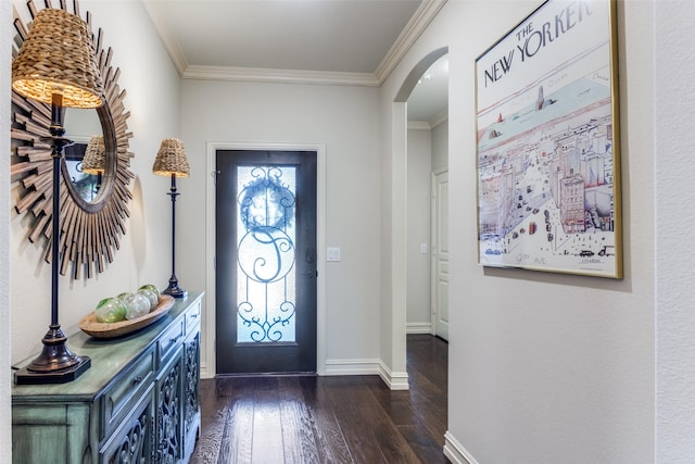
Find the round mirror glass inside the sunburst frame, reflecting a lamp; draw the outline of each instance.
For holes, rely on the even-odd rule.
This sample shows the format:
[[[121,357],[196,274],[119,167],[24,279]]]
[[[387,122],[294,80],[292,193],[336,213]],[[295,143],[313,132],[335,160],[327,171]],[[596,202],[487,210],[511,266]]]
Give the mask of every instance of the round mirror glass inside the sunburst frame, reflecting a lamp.
[[[106,155],[103,143],[102,125],[104,122],[100,120],[97,110],[78,108],[65,109],[63,121],[65,137],[75,142],[75,145],[65,148],[63,176],[74,197],[80,198],[87,203],[97,203],[103,197],[102,185],[110,176],[113,176],[111,163],[108,163],[106,159],[111,160],[114,156]],[[89,142],[94,137],[101,137],[100,143],[92,145],[88,150]],[[97,141],[93,140],[93,142]],[[115,143],[110,145],[113,147]],[[99,148],[96,150],[97,147]],[[91,162],[85,160],[87,153],[92,156]],[[94,160],[94,155],[100,160]],[[85,161],[91,168],[85,168]]]

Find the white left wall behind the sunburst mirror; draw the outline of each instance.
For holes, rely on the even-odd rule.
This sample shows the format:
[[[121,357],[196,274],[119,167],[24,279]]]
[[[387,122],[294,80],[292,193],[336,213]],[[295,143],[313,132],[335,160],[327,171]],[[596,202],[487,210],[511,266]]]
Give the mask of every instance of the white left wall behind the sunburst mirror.
[[[14,5],[28,22],[25,3],[16,0]],[[113,48],[112,64],[122,71],[118,83],[127,91],[125,105],[131,113],[128,128],[134,134],[130,151],[135,158],[130,167],[136,178],[129,186],[134,193],[128,204],[130,218],[114,262],[91,279],[60,280],[60,322],[68,335],[78,330],[79,319],[104,297],[144,283],[166,287],[170,275],[169,180],[154,176],[152,163],[162,138],[176,137],[179,129],[178,74],[142,4],[85,0],[80,10],[83,14],[92,13],[94,32],[103,28],[104,45]],[[10,18],[2,17],[9,27]],[[4,43],[3,48],[10,46]],[[16,193],[15,188],[13,199]],[[40,350],[48,329],[51,267],[42,262],[42,248],[25,239],[24,217],[14,211],[11,214],[12,361],[17,362]]]

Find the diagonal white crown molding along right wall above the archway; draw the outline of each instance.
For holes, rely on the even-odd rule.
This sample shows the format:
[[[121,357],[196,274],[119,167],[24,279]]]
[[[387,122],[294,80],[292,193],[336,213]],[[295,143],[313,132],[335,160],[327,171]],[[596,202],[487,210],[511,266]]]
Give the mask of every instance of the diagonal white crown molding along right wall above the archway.
[[[401,35],[395,40],[387,55],[381,60],[375,74],[379,85],[383,84],[389,78],[395,66],[399,65],[403,57],[410,50],[413,45],[420,37],[422,32],[430,25],[434,16],[444,7],[447,0],[424,0],[418,7],[417,11],[405,25]]]

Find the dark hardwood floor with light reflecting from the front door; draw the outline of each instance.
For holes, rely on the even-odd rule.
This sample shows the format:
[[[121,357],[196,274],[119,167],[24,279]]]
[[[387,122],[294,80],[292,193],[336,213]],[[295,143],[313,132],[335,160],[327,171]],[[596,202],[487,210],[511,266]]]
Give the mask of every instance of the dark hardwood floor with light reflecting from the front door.
[[[191,463],[448,463],[446,342],[408,335],[407,371],[408,391],[378,376],[202,380]]]

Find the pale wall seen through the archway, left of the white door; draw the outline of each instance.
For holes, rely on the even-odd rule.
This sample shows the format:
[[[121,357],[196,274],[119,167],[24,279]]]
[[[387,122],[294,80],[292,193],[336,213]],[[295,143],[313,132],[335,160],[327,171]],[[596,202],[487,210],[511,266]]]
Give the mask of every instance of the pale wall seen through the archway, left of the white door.
[[[407,330],[429,334],[432,131],[408,129]],[[427,250],[421,252],[425,243]]]

